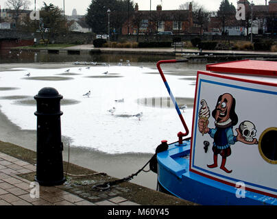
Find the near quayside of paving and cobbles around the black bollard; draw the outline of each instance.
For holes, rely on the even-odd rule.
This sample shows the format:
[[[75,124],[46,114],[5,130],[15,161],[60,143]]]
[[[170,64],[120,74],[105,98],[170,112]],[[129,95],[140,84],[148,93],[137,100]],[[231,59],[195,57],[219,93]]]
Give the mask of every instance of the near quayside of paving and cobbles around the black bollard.
[[[67,178],[63,185],[40,186],[39,193],[32,193],[36,153],[0,141],[0,205],[196,205],[130,182],[95,191],[93,185],[117,179],[105,172],[63,164]]]

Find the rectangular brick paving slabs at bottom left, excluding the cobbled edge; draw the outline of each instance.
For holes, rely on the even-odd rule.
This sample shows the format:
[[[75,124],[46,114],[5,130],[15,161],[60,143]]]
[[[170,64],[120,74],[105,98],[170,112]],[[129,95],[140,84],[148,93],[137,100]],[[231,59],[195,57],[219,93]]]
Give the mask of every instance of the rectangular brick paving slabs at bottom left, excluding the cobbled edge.
[[[99,197],[91,196],[88,201],[60,186],[40,186],[39,197],[33,198],[30,195],[32,181],[19,175],[35,171],[36,166],[0,153],[0,205],[138,205],[121,196],[107,196],[101,201],[97,200]]]

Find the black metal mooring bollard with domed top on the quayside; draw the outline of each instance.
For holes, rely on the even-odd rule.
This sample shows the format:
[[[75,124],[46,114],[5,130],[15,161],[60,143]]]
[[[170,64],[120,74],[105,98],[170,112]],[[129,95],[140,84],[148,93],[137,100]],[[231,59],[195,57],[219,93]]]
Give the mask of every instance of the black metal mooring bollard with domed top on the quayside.
[[[43,88],[36,96],[36,177],[40,185],[62,185],[66,180],[62,166],[62,137],[60,129],[60,100],[55,88]]]

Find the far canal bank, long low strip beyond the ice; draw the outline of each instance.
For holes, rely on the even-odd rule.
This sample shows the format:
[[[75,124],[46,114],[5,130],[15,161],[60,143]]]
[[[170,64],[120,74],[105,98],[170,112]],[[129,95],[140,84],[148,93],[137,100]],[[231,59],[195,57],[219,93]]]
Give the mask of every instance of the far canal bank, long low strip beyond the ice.
[[[77,45],[66,48],[32,48],[17,49],[11,51],[28,51],[40,54],[60,54],[60,55],[159,55],[165,60],[175,57],[191,63],[224,62],[233,60],[277,60],[277,52],[270,51],[215,51],[184,49],[180,47],[171,48],[95,48],[93,44]]]

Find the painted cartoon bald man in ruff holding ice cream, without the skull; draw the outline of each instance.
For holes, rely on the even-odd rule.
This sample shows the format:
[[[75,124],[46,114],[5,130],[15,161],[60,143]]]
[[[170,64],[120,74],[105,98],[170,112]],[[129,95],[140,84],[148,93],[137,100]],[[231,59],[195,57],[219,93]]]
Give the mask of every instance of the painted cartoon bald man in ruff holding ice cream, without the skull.
[[[202,107],[199,112],[198,129],[202,135],[208,133],[213,138],[213,164],[207,165],[208,168],[217,167],[217,156],[221,155],[221,170],[227,173],[232,172],[225,167],[226,159],[231,155],[231,144],[237,141],[245,144],[258,144],[257,139],[254,138],[250,142],[245,140],[239,129],[236,129],[237,136],[234,136],[232,128],[238,123],[238,116],[235,112],[236,100],[231,94],[225,93],[217,99],[217,105],[212,112],[215,118],[215,129],[208,128],[208,118],[210,117],[210,110],[205,100],[201,102]]]

